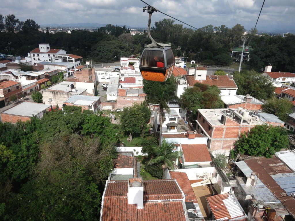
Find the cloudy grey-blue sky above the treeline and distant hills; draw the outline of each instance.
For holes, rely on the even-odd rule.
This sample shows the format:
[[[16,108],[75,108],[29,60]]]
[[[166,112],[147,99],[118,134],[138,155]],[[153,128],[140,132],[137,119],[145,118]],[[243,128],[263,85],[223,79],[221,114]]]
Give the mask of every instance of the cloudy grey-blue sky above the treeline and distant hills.
[[[242,24],[255,26],[263,0],[145,0],[151,6],[193,27],[209,24],[229,28]],[[0,14],[14,14],[17,19],[33,19],[42,24],[99,23],[146,27],[146,4],[140,0],[8,0],[1,4]],[[258,31],[295,29],[294,0],[266,0],[256,28]],[[153,13],[152,24],[169,18]],[[180,22],[175,22],[180,23]],[[183,25],[186,27],[186,25]]]

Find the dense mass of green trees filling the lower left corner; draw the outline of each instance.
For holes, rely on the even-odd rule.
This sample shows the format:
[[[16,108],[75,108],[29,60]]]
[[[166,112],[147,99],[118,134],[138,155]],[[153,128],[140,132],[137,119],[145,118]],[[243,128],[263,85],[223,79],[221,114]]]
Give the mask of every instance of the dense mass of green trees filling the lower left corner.
[[[118,130],[81,107],[66,109],[0,123],[0,220],[99,218]],[[102,127],[85,133],[91,120]]]

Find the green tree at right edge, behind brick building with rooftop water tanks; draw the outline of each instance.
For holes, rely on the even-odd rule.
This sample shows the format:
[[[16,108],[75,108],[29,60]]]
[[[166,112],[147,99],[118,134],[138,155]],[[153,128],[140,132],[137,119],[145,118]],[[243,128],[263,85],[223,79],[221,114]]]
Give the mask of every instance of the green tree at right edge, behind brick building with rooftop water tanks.
[[[294,112],[294,105],[290,100],[275,97],[269,99],[262,108],[264,111],[276,115],[281,121],[286,121],[287,114]]]

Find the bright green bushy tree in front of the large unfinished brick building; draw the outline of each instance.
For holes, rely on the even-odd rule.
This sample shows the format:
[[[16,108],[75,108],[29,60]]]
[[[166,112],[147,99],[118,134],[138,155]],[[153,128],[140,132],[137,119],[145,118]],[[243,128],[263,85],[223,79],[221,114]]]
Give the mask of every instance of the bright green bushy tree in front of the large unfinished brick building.
[[[241,134],[239,140],[234,143],[235,150],[232,158],[238,153],[249,156],[265,156],[271,158],[275,152],[289,145],[288,131],[283,127],[268,125],[257,125],[247,132]]]

